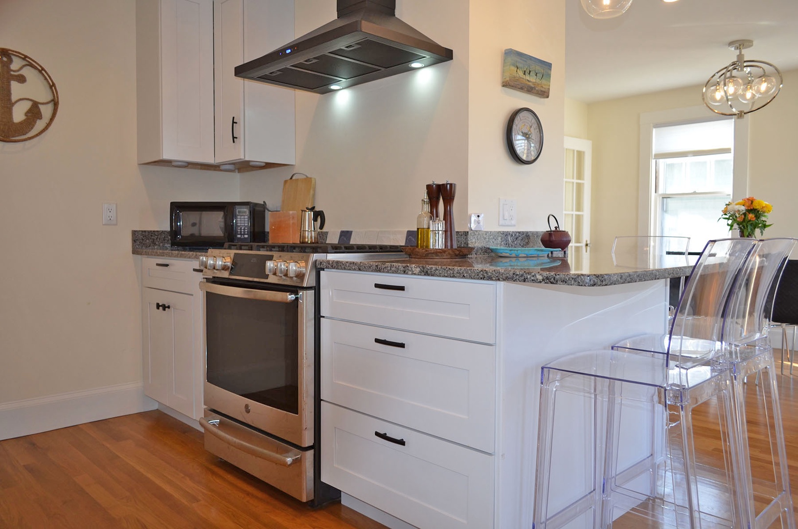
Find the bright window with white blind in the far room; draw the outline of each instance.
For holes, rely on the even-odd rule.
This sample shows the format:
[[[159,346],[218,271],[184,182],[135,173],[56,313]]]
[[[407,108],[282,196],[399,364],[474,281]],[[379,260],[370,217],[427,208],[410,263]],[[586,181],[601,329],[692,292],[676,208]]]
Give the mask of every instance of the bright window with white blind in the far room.
[[[733,118],[654,125],[652,231],[690,237],[690,252],[729,237],[719,222],[733,193]]]

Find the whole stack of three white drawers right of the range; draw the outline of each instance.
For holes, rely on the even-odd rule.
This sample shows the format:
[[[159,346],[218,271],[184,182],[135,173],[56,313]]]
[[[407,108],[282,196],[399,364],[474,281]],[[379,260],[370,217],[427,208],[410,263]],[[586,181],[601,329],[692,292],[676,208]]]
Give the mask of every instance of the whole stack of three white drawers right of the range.
[[[325,270],[322,481],[424,528],[493,527],[496,284]]]

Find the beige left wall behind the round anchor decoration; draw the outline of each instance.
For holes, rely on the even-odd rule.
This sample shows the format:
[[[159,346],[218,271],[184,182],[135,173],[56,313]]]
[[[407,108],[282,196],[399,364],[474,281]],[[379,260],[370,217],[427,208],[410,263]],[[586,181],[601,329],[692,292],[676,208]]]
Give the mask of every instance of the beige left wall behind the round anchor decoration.
[[[164,229],[172,200],[238,198],[235,175],[136,165],[134,7],[0,2],[0,46],[60,97],[47,132],[0,143],[0,404],[141,380],[130,230]],[[101,225],[106,201],[116,226]]]

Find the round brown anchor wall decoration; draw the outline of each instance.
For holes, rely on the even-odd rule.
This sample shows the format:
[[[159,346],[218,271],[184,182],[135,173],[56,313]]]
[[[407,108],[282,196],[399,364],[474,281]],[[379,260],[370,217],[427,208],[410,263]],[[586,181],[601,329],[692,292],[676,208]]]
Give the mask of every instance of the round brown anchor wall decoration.
[[[0,141],[28,141],[49,128],[58,91],[47,70],[18,51],[0,48]]]

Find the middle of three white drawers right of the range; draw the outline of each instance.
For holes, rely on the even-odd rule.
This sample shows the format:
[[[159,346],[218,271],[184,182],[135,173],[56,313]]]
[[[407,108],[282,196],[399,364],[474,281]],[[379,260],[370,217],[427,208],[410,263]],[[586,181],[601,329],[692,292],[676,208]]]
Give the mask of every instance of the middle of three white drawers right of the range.
[[[496,347],[322,318],[322,399],[492,452]]]

